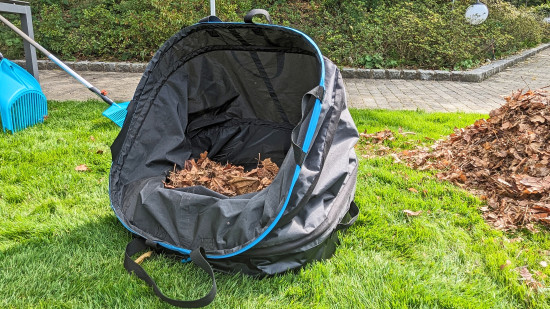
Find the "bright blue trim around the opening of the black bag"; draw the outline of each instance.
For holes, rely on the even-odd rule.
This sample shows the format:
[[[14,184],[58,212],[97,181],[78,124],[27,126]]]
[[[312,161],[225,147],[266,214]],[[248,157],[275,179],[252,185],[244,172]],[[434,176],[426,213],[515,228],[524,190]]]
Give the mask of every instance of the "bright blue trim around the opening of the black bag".
[[[226,23],[226,24],[244,24],[244,23]],[[306,35],[305,33],[301,32],[299,30],[289,28],[289,27],[285,27],[285,26],[271,25],[271,24],[259,24],[259,25],[283,28],[283,29],[291,30],[291,31],[296,32],[296,33],[300,34],[301,36],[303,36],[317,51],[317,56],[319,57],[319,62],[321,63],[321,80],[319,82],[319,86],[322,87],[323,89],[325,88],[325,62],[323,60],[323,55],[321,54],[321,50],[319,49],[317,44],[308,35]],[[309,147],[310,147],[311,142],[313,140],[313,135],[315,134],[315,129],[317,128],[317,123],[319,122],[319,116],[321,114],[321,105],[322,105],[321,100],[317,99],[315,101],[315,106],[313,107],[313,111],[312,111],[312,114],[311,114],[311,119],[310,119],[309,124],[308,124],[306,137],[304,139],[304,145],[302,146],[302,150],[305,153],[309,152]],[[302,169],[301,166],[296,165],[296,168],[294,169],[294,175],[292,176],[292,182],[290,184],[290,188],[288,190],[288,193],[287,193],[287,196],[285,198],[285,202],[283,204],[283,207],[281,208],[281,211],[279,212],[277,217],[275,217],[275,219],[273,220],[271,225],[265,231],[263,231],[263,233],[260,236],[258,236],[256,239],[254,239],[254,241],[252,241],[251,243],[249,243],[245,247],[243,247],[243,248],[241,248],[241,249],[239,249],[239,250],[237,250],[233,253],[229,253],[229,254],[225,254],[225,255],[208,255],[207,254],[206,258],[209,258],[209,259],[224,259],[224,258],[229,258],[229,257],[235,256],[235,255],[239,255],[239,254],[251,249],[252,247],[257,245],[260,241],[262,241],[275,228],[275,226],[277,225],[277,223],[279,222],[279,220],[283,216],[283,213],[285,212],[286,207],[288,206],[288,202],[290,201],[290,196],[292,195],[294,185],[296,184],[296,181],[298,180],[298,176],[300,175],[301,169]],[[111,195],[110,190],[111,189],[110,189],[110,186],[109,186],[109,196]],[[113,208],[113,211],[114,211],[114,207],[113,207],[112,203],[111,203],[111,208]],[[115,215],[116,215],[116,211],[115,211]],[[117,216],[117,218],[118,218],[118,216]],[[120,218],[118,218],[118,219],[128,231],[132,232],[133,234],[142,236],[139,233],[136,233],[132,229],[130,229],[130,227],[128,227]],[[176,247],[176,246],[173,246],[173,245],[170,245],[170,244],[166,244],[166,243],[162,243],[162,242],[156,242],[156,243],[159,244],[160,246],[165,247],[167,249],[170,249],[172,251],[176,251],[176,252],[187,254],[187,255],[191,253],[191,250],[189,250],[189,249],[179,248],[179,247]],[[182,259],[181,262],[185,263],[185,262],[188,262],[189,260],[190,259]]]

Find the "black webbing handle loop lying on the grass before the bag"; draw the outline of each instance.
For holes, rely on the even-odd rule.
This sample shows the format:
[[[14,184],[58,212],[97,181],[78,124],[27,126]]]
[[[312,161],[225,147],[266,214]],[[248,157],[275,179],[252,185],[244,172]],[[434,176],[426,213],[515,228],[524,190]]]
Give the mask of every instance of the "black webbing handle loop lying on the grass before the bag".
[[[149,246],[145,244],[144,239],[134,238],[128,244],[128,246],[126,246],[126,254],[124,256],[124,268],[126,268],[128,273],[134,273],[139,279],[145,281],[145,283],[152,287],[153,291],[160,299],[169,303],[172,306],[181,308],[200,308],[210,304],[214,300],[214,297],[216,297],[216,279],[214,278],[214,271],[212,270],[212,267],[210,267],[210,264],[208,264],[208,262],[206,261],[203,248],[198,248],[191,251],[191,261],[193,261],[195,265],[199,266],[202,270],[207,272],[208,275],[210,275],[210,278],[212,279],[212,288],[210,289],[210,292],[206,294],[206,296],[197,300],[176,300],[166,297],[164,294],[162,294],[155,281],[151,277],[149,277],[147,272],[138,263],[132,260],[132,255],[147,250],[148,248]]]

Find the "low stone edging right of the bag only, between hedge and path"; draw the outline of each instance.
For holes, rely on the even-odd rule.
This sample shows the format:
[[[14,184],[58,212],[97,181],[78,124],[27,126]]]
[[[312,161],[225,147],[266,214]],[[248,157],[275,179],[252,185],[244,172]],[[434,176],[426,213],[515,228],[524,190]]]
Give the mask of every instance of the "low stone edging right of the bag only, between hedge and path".
[[[479,83],[488,77],[504,71],[504,69],[523,61],[547,48],[550,43],[541,44],[538,47],[528,49],[521,54],[502,60],[495,60],[490,64],[469,71],[443,71],[443,70],[398,70],[398,69],[354,69],[342,68],[340,72],[343,78],[364,79],[407,79],[407,80],[447,80],[459,82]]]

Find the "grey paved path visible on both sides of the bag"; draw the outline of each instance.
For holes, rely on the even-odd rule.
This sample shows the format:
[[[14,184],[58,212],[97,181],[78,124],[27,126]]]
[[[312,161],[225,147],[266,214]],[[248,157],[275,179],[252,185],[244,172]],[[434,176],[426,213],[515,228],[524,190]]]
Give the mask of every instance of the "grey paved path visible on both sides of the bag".
[[[141,78],[140,73],[81,73],[97,88],[109,91],[109,96],[116,102],[130,100]],[[550,86],[550,48],[481,83],[382,79],[344,81],[348,104],[354,108],[489,113],[504,104],[503,97],[514,90]],[[97,98],[64,71],[40,71],[40,83],[48,100]]]

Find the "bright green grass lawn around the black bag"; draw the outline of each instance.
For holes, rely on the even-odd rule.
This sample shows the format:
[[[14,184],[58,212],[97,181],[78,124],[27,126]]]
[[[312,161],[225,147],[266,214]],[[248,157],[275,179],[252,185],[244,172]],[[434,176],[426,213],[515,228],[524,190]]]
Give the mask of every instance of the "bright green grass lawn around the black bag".
[[[0,133],[0,308],[169,308],[122,265],[131,235],[108,197],[109,146],[119,128],[101,116],[104,108],[50,102],[44,124]],[[352,114],[361,132],[417,133],[389,144],[399,148],[483,116]],[[81,164],[89,171],[76,171]],[[540,264],[550,263],[546,229],[493,230],[478,198],[389,157],[361,159],[359,169],[361,214],[332,259],[262,280],[217,274],[211,307],[550,308],[548,289],[527,287],[517,270],[527,266],[544,286],[550,281],[550,267]],[[422,213],[409,217],[405,209]],[[169,296],[196,298],[209,289],[193,265],[153,258],[144,267]]]

